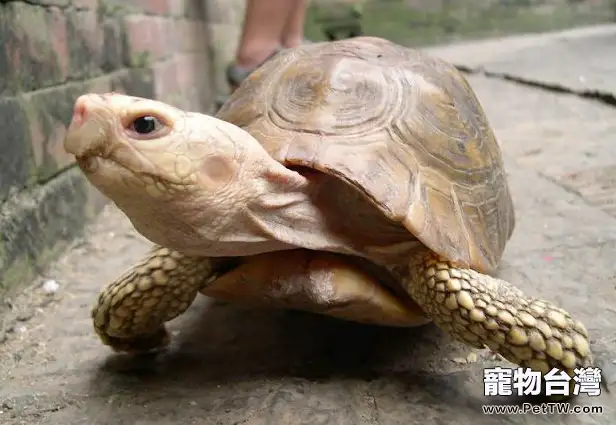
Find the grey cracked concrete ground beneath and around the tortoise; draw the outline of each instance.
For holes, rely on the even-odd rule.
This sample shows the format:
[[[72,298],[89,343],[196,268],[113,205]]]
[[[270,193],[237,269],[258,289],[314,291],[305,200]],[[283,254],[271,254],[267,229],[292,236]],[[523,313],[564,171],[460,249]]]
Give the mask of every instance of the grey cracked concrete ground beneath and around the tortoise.
[[[533,53],[541,58],[534,68],[525,65],[528,75],[542,75],[552,60],[566,62],[560,68],[568,72],[566,64],[577,63],[576,54],[587,57],[593,49],[593,35],[584,37],[576,39],[569,59],[553,54],[545,40],[509,49],[509,59],[516,63],[515,55],[529,57],[527,49],[541,47],[541,55]],[[498,42],[499,49],[507,51],[507,43]],[[479,51],[466,44],[434,52],[473,68],[459,59],[479,62],[474,54]],[[616,55],[602,57],[616,60]],[[616,109],[498,78],[470,75],[469,81],[501,140],[517,208],[517,228],[500,275],[584,321],[603,376],[613,380]],[[113,355],[93,335],[90,306],[100,286],[148,247],[117,210],[108,208],[87,237],[42,277],[59,283],[55,294],[46,295],[37,282],[12,301],[12,314],[0,328],[1,424],[607,425],[616,420],[614,390],[577,400],[603,406],[602,415],[482,414],[483,404],[514,401],[483,396],[482,368],[504,363],[471,352],[433,326],[382,329],[202,297],[172,323],[168,352],[139,359]]]

